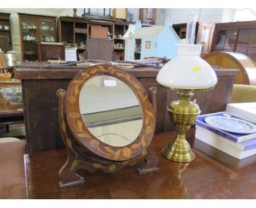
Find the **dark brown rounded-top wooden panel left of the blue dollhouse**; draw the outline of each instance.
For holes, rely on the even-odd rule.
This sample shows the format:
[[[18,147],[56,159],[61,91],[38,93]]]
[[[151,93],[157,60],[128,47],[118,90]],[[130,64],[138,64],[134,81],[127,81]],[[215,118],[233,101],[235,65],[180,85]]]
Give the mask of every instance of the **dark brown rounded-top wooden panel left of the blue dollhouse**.
[[[111,62],[114,60],[114,46],[111,40],[91,38],[86,41],[84,59],[98,59]]]

